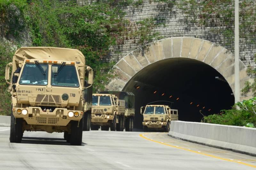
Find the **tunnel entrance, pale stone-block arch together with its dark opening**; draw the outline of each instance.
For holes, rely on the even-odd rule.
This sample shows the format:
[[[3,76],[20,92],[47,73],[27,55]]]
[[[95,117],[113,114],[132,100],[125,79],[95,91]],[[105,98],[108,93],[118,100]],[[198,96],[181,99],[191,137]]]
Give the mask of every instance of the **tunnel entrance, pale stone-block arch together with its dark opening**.
[[[156,100],[174,102],[172,108],[179,110],[179,119],[184,121],[200,121],[199,110],[207,109],[203,114],[209,115],[234,104],[234,55],[207,40],[161,39],[129,53],[114,68],[118,76],[106,88],[135,94],[137,128],[142,121],[140,106]],[[252,79],[240,60],[241,89],[245,81]],[[251,97],[241,96],[241,100]]]

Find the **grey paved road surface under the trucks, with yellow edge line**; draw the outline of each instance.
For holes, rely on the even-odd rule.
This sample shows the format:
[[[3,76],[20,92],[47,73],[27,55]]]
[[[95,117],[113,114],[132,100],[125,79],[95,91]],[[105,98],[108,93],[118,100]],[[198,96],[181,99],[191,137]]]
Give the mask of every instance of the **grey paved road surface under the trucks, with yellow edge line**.
[[[167,133],[86,131],[82,146],[63,133],[25,132],[9,142],[0,127],[0,169],[225,169],[256,168],[256,157],[171,138]]]

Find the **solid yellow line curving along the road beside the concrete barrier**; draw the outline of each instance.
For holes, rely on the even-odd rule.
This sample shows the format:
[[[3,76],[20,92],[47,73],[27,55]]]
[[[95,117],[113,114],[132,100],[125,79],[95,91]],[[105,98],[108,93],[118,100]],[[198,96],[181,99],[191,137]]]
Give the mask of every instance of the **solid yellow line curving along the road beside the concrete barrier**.
[[[159,142],[159,141],[156,141],[156,140],[153,140],[153,139],[149,139],[149,138],[144,137],[143,135],[145,135],[145,134],[148,134],[148,133],[141,133],[141,134],[140,134],[140,137],[141,137],[141,138],[144,138],[144,139],[147,139],[147,140],[150,140],[150,141],[152,141],[152,142],[156,142],[156,143],[159,143],[159,144],[162,144],[162,145],[166,145],[166,146],[170,146],[170,147],[173,147],[173,148],[182,149],[182,150],[185,150],[185,151],[188,151],[188,152],[194,152],[194,153],[201,154],[201,155],[204,155],[204,156],[209,156],[209,157],[212,157],[212,158],[221,159],[221,160],[226,160],[226,161],[229,161],[229,162],[235,162],[235,163],[238,163],[238,164],[243,164],[243,165],[246,165],[246,166],[251,166],[251,167],[256,168],[255,165],[247,164],[247,163],[244,163],[244,162],[237,162],[237,161],[235,161],[235,160],[230,160],[230,159],[226,159],[226,158],[221,158],[221,157],[214,156],[214,155],[210,155],[210,154],[207,154],[207,153],[197,152],[197,151],[189,150],[189,149],[186,149],[186,148],[182,148],[182,147],[178,147],[178,146],[174,146],[174,145],[169,145],[169,144],[166,144],[166,143],[162,143],[162,142]]]

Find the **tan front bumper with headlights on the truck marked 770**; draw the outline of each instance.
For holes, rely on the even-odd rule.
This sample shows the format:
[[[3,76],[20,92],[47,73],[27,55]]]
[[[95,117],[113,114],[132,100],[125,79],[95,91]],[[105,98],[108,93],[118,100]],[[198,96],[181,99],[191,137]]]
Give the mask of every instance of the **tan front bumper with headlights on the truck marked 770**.
[[[26,116],[18,114],[18,109],[27,109],[28,114]],[[68,117],[69,111],[78,112],[79,116]],[[71,120],[79,121],[83,117],[83,111],[65,108],[56,108],[52,112],[44,112],[40,107],[13,108],[12,113],[16,118],[23,118],[27,124],[35,125],[67,126]]]

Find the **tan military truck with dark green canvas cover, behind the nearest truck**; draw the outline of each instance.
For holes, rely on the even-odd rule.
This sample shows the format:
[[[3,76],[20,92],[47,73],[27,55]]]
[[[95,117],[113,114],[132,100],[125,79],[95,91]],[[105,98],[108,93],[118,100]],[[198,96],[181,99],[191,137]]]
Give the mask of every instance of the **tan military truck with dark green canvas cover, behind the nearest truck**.
[[[132,131],[134,115],[133,93],[103,91],[92,96],[91,130]]]

